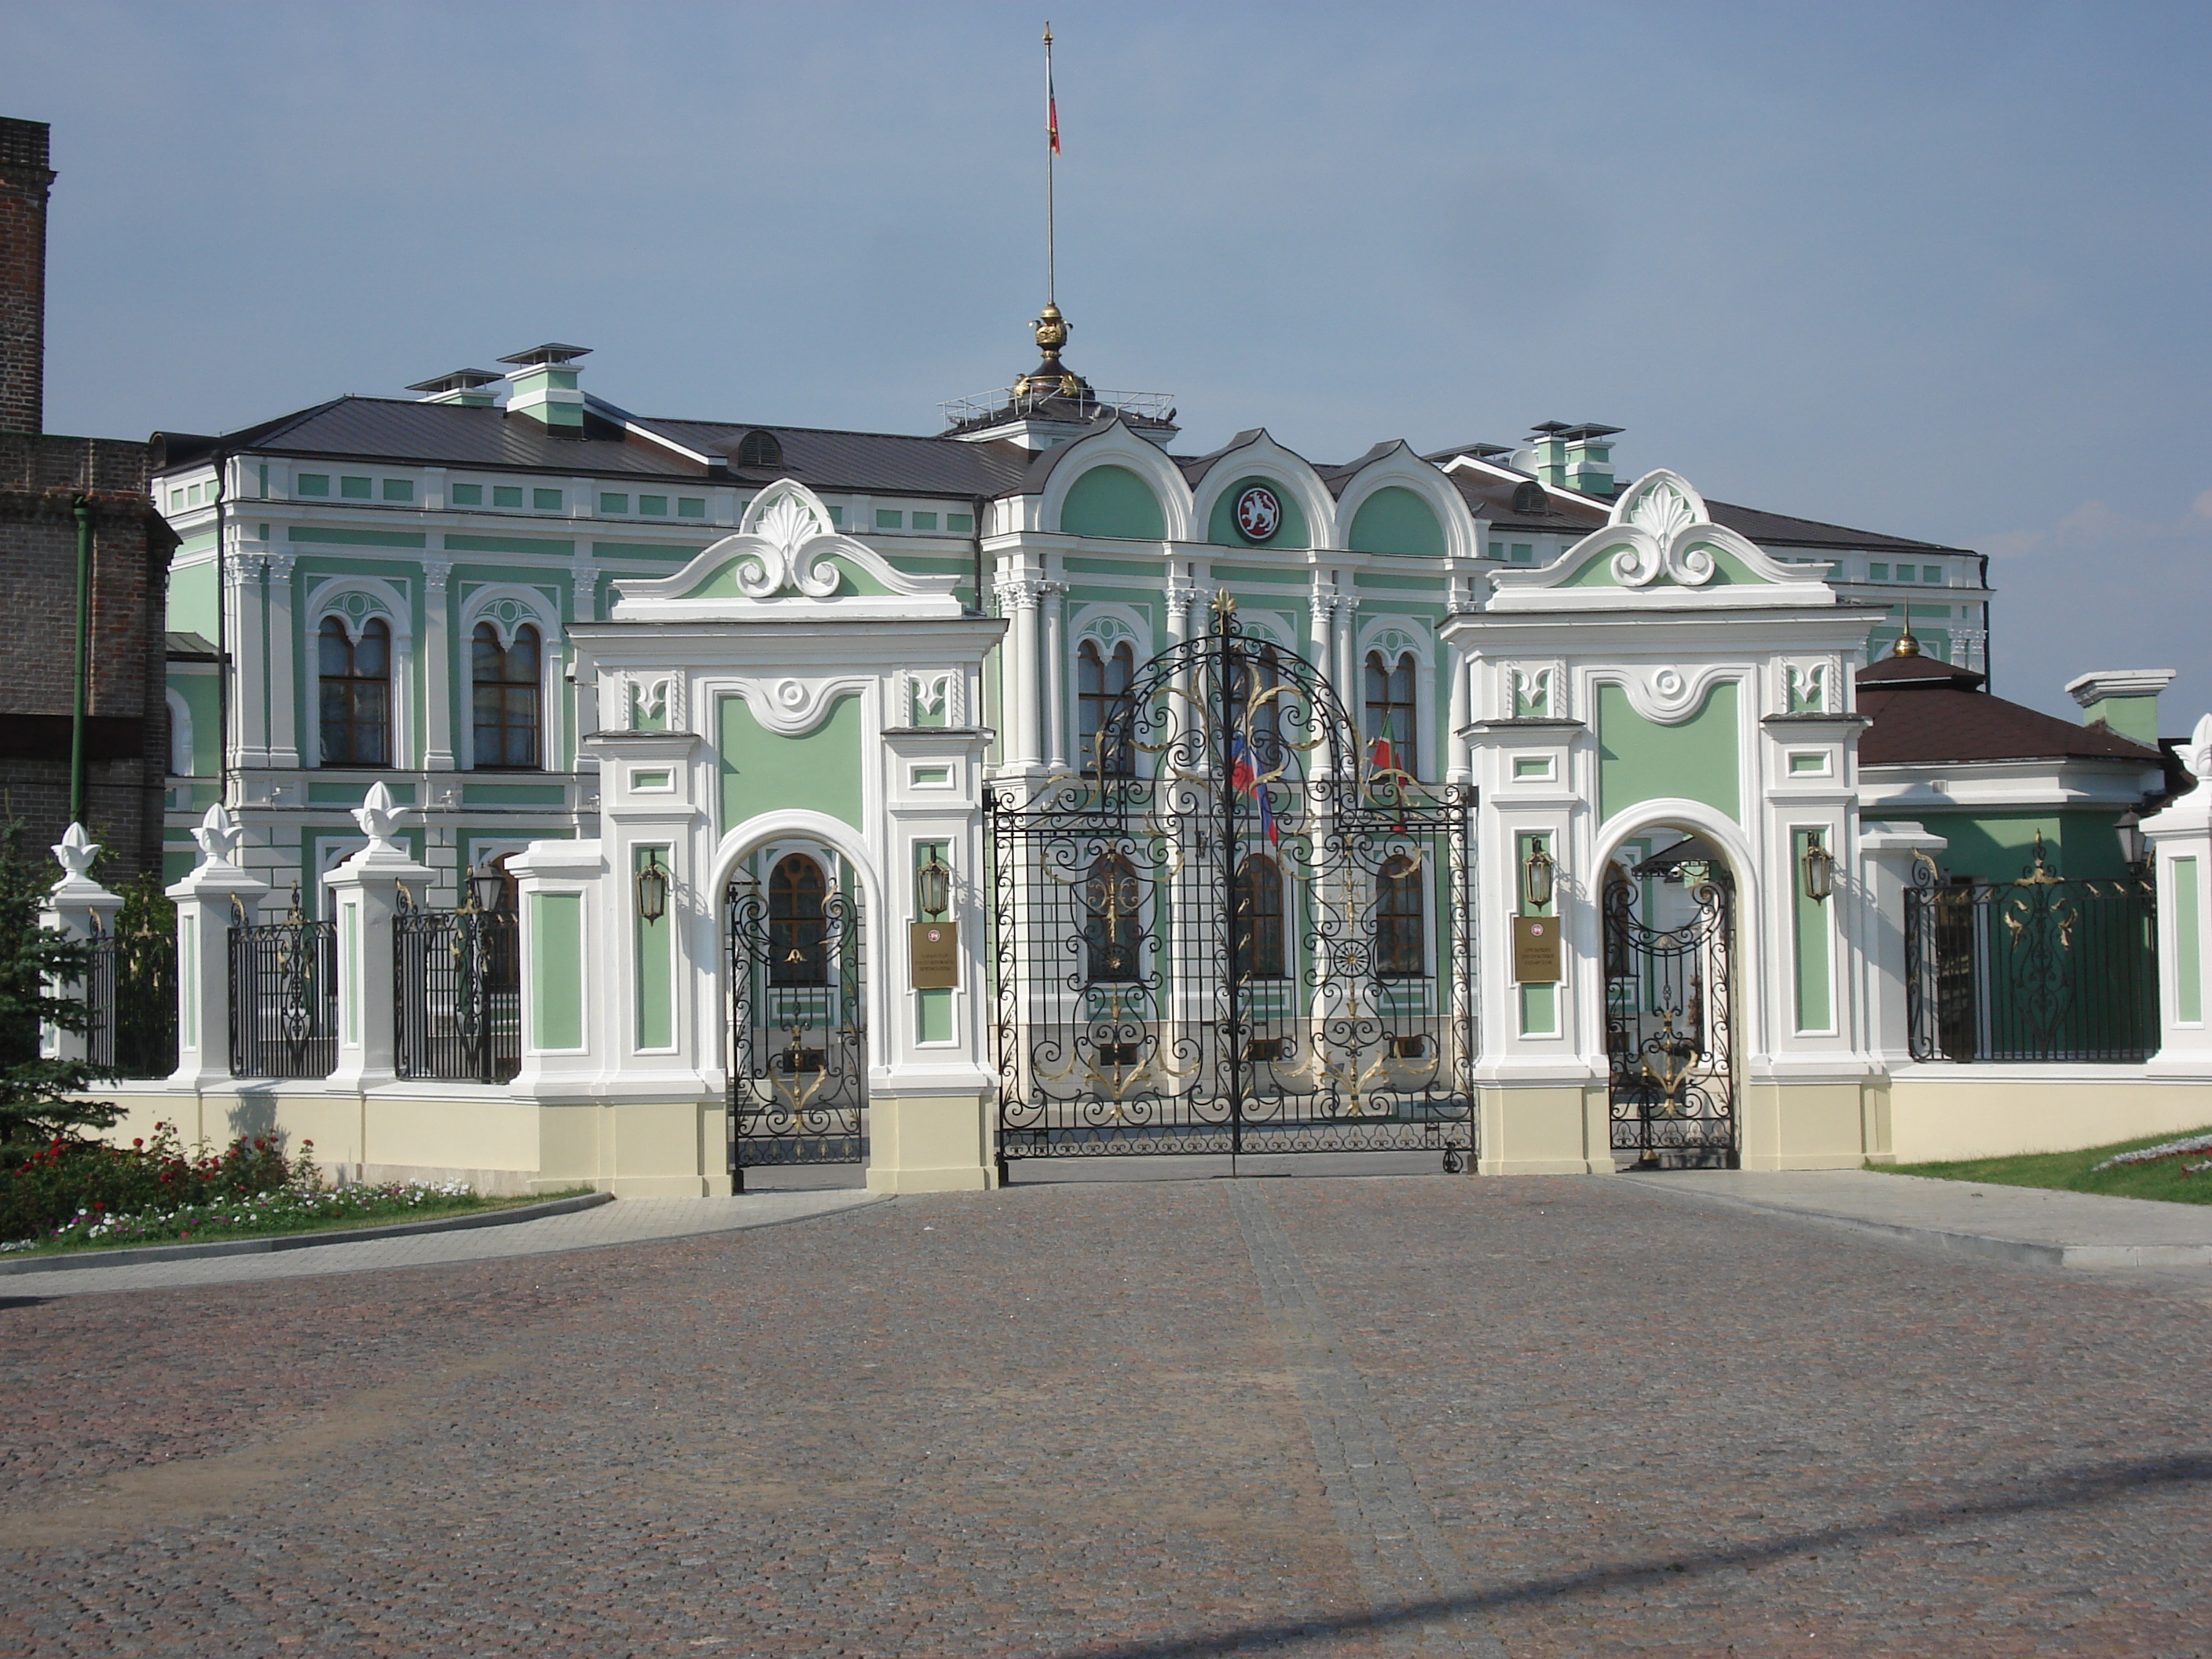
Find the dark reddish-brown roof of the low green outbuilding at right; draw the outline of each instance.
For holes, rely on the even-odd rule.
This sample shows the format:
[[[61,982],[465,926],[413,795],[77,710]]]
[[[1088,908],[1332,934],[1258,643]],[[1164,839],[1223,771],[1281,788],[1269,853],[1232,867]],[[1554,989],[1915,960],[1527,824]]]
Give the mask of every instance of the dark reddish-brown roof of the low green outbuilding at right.
[[[1858,739],[1860,765],[1916,761],[2137,761],[2159,750],[2101,721],[2075,726],[1982,690],[1982,675],[1933,657],[1882,657],[1860,668],[1858,708],[1874,723]]]

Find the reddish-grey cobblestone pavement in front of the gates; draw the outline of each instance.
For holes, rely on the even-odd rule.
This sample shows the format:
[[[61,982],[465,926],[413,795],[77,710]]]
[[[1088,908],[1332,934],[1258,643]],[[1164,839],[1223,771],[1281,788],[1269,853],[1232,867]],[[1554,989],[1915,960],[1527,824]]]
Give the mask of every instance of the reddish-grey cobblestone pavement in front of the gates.
[[[1606,1179],[0,1305],[0,1652],[2205,1655],[2212,1307]]]

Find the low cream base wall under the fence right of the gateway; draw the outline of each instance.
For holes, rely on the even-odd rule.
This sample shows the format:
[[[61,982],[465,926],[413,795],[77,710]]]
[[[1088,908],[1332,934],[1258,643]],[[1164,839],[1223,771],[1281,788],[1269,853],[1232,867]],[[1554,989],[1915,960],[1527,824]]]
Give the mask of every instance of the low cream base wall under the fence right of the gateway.
[[[2137,1066],[1916,1066],[1889,1079],[1889,1164],[1940,1164],[2212,1128],[2212,1082],[2166,1082]]]

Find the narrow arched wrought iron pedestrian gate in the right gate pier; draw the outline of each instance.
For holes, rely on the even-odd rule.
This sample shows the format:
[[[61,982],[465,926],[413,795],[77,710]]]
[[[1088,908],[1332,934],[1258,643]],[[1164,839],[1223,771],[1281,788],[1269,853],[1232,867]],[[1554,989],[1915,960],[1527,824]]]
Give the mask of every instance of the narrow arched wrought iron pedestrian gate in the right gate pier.
[[[1606,878],[1613,1150],[1641,1168],[1736,1168],[1732,929],[1719,863],[1659,854]]]

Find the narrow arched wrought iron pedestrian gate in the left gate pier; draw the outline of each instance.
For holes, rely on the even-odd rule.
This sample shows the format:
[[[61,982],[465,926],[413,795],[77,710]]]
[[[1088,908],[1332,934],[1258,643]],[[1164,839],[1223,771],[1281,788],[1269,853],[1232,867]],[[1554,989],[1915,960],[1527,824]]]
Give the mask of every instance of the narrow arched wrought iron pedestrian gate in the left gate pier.
[[[785,876],[814,872],[814,885]],[[734,880],[730,927],[730,1177],[867,1159],[867,1002],[860,905],[805,854],[770,887]]]

